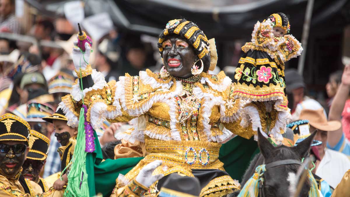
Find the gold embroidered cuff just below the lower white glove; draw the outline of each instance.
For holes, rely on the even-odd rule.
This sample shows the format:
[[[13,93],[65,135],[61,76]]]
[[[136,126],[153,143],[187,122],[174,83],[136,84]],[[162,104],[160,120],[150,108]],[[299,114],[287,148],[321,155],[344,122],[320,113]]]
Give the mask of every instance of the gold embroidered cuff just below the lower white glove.
[[[135,179],[123,188],[114,188],[111,197],[139,197],[143,196],[148,188],[138,183]]]

